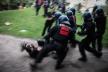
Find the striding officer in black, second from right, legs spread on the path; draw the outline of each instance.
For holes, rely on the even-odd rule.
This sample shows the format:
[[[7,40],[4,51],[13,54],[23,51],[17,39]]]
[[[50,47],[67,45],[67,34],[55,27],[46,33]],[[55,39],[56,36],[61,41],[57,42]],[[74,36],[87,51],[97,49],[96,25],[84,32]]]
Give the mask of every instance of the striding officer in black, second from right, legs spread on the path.
[[[90,47],[91,42],[95,40],[95,24],[92,21],[92,16],[88,12],[84,15],[84,24],[81,27],[82,31],[78,32],[79,35],[86,35],[86,37],[79,44],[79,51],[81,53],[80,61],[87,61],[85,50],[91,52],[97,58],[101,57],[101,53],[97,52],[94,48]]]

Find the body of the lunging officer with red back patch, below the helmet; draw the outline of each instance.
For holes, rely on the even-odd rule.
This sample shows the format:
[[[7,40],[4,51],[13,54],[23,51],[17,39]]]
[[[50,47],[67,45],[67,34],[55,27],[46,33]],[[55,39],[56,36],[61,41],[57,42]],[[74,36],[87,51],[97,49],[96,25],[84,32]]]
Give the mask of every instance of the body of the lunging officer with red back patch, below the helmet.
[[[65,17],[63,16],[65,19]],[[60,21],[61,22],[61,21]],[[62,21],[59,26],[54,26],[48,35],[45,36],[45,39],[52,39],[49,44],[45,45],[42,51],[37,56],[34,64],[31,64],[32,67],[36,67],[38,63],[40,63],[43,57],[51,51],[56,51],[57,53],[57,63],[55,69],[59,69],[62,67],[61,63],[63,62],[68,48],[68,41],[73,40],[73,31],[70,27],[68,21]]]

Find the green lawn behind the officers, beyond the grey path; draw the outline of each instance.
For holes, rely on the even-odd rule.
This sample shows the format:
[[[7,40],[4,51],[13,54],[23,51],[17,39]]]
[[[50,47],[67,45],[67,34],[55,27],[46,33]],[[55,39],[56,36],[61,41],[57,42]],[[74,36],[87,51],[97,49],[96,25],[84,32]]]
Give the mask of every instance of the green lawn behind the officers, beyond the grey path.
[[[44,27],[45,18],[43,10],[41,9],[38,16],[35,15],[33,8],[26,8],[22,10],[8,10],[0,12],[0,34],[8,34],[18,37],[26,38],[41,38],[41,33]],[[81,14],[76,14],[77,24],[82,24]],[[11,23],[5,25],[6,22]],[[21,30],[26,30],[21,32]],[[108,47],[108,23],[106,26],[106,33],[104,34],[103,43]],[[82,38],[77,35],[77,40]]]

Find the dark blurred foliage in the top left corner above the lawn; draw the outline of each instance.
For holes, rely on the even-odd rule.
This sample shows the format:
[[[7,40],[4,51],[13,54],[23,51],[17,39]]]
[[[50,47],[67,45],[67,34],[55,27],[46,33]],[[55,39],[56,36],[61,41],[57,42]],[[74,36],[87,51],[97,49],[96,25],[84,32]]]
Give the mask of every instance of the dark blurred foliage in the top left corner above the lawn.
[[[33,2],[34,0],[0,0],[0,10],[17,9],[19,5],[30,6]]]

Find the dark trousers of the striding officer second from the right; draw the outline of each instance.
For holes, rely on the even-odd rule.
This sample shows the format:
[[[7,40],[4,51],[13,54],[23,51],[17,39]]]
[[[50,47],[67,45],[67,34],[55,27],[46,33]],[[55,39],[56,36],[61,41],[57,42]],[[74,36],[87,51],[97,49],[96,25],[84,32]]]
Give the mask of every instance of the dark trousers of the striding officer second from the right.
[[[93,55],[98,55],[98,52],[94,48],[90,47],[92,41],[92,38],[86,37],[79,44],[79,51],[83,58],[86,58],[85,50],[91,52]]]

